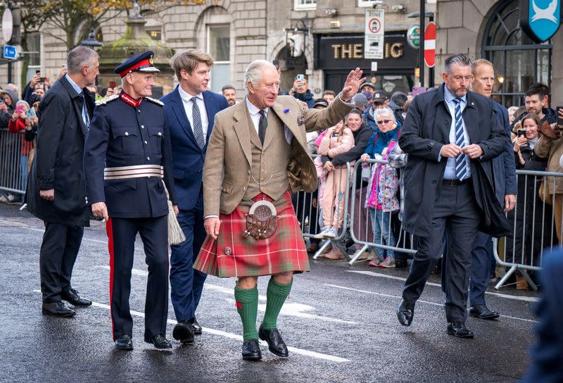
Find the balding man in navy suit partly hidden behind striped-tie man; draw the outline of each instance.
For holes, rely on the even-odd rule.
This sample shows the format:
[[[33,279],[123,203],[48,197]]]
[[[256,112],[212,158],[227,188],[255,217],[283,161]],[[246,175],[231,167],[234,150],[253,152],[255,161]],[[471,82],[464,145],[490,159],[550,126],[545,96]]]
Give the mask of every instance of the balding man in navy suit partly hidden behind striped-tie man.
[[[472,65],[472,73],[472,91],[490,99],[495,84],[493,64],[484,59],[476,60]],[[495,101],[491,102],[495,118],[500,126],[504,127],[506,135],[505,150],[500,156],[493,158],[495,196],[498,203],[505,206],[505,212],[509,212],[514,209],[517,194],[510,123],[508,123],[506,108]],[[444,254],[444,256],[446,255]],[[491,280],[491,272],[494,271],[491,268],[493,265],[491,260],[494,261],[493,238],[487,232],[479,232],[472,246],[471,282],[469,284],[469,304],[471,306],[469,314],[479,319],[493,320],[500,316],[496,311],[490,310],[485,303],[485,291]],[[445,268],[442,268],[442,280],[445,280]],[[442,284],[442,289],[445,292],[445,284]]]

